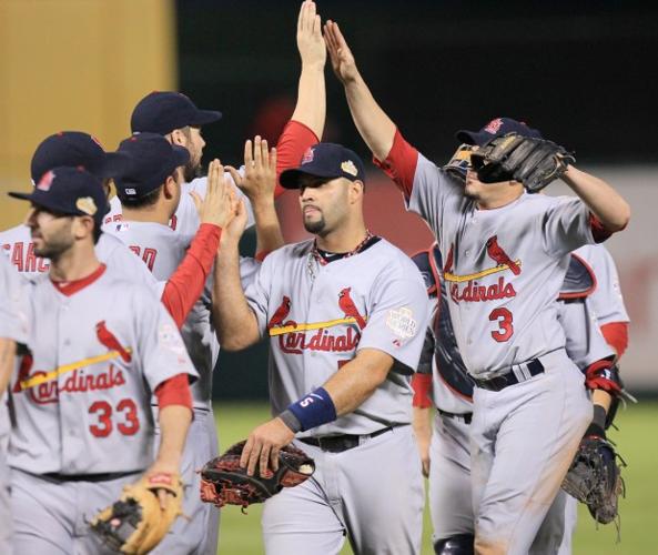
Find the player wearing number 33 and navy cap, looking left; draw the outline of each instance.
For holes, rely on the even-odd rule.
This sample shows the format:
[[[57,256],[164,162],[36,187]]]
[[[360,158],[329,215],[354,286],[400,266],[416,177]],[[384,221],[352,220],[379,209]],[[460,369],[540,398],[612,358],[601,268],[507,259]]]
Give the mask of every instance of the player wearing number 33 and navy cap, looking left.
[[[10,194],[31,202],[34,254],[50,259],[26,292],[29,354],[11,385],[14,548],[102,553],[88,522],[124,484],[140,474],[150,484],[176,480],[196,372],[151,290],[97,259],[107,202],[99,179],[55,168],[31,193]]]

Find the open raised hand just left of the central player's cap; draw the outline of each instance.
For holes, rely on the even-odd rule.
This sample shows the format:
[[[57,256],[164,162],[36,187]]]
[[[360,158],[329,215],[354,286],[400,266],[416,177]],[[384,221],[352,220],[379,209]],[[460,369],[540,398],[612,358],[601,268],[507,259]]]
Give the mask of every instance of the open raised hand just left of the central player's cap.
[[[244,175],[231,165],[226,169],[252,204],[274,201],[276,186],[276,149],[269,150],[267,141],[256,135],[244,143]]]

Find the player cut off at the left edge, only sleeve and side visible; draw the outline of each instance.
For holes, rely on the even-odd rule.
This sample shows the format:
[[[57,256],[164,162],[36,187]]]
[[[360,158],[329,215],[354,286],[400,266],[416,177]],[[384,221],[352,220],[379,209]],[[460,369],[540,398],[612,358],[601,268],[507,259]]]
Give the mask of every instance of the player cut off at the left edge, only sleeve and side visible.
[[[0,403],[4,404],[4,390],[13,372],[17,343],[24,344],[28,335],[19,276],[4,256],[0,256]],[[0,416],[0,553],[11,555],[12,526],[6,461],[8,434],[9,418],[3,411]]]

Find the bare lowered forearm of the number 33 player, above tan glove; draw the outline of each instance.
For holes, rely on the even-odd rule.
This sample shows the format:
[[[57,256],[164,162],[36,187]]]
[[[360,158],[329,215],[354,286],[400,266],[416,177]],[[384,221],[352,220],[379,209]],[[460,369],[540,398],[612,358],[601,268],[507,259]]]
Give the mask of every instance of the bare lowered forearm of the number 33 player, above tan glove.
[[[160,447],[152,470],[179,472],[192,411],[183,405],[166,405],[160,408]]]

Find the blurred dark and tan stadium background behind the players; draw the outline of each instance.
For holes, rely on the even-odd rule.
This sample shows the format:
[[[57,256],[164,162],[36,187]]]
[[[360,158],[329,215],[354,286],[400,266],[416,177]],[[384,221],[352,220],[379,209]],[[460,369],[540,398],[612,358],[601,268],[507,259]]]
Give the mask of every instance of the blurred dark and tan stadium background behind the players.
[[[37,144],[83,130],[108,150],[129,134],[139,99],[180,90],[221,110],[204,128],[204,159],[240,164],[244,140],[274,143],[295,102],[297,0],[0,0],[0,224],[24,206]],[[630,202],[631,223],[609,241],[631,317],[622,375],[657,394],[658,6],[634,1],[318,0],[338,21],[375,98],[437,163],[458,129],[508,115],[576,152]],[[370,160],[327,67],[324,140]],[[551,185],[549,194],[568,194]],[[432,241],[370,164],[371,230],[412,254]],[[279,202],[286,240],[304,236],[295,194]],[[509,222],[514,225],[514,222]],[[253,250],[246,235],[244,252]],[[264,398],[264,345],[222,354],[216,398]]]

